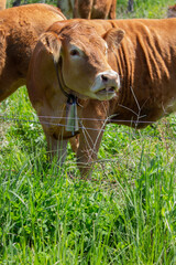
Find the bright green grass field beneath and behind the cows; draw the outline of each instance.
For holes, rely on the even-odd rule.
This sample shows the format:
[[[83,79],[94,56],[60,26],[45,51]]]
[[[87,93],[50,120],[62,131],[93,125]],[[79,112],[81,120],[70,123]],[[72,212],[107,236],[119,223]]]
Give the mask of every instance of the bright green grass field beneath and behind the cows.
[[[163,18],[174,1],[135,1],[119,18]],[[110,125],[91,180],[75,156],[48,165],[21,87],[0,106],[0,264],[176,264],[176,118]]]

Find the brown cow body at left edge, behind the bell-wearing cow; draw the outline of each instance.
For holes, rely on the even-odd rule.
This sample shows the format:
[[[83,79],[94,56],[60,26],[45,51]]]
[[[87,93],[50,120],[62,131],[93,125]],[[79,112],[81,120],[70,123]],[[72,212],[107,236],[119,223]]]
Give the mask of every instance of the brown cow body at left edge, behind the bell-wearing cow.
[[[40,34],[63,19],[57,8],[42,3],[0,11],[0,102],[25,84]]]

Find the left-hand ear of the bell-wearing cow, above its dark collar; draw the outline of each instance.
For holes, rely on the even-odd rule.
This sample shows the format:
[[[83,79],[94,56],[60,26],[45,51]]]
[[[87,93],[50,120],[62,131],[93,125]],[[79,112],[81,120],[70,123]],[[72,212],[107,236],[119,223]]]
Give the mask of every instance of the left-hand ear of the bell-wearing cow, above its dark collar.
[[[57,63],[61,55],[62,42],[54,32],[45,32],[41,35],[40,41],[48,53],[53,54],[54,61]]]

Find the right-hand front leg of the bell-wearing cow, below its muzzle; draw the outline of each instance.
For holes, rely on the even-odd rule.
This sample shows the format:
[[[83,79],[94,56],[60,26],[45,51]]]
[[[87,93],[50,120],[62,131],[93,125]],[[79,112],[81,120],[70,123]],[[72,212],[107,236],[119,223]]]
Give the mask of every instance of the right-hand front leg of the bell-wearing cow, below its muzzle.
[[[107,118],[110,115],[109,102],[90,100],[82,109],[78,108],[78,116],[82,118],[82,121],[77,150],[77,165],[84,178],[90,178],[108,121]]]

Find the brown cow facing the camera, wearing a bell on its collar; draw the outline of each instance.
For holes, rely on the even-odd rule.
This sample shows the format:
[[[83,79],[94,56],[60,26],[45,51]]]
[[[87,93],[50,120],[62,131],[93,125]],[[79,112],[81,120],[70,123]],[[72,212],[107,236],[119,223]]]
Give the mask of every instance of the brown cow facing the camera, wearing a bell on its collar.
[[[34,50],[28,76],[48,149],[64,156],[72,138],[65,129],[64,92],[77,95],[80,104],[77,160],[82,174],[97,158],[107,123],[144,128],[175,110],[175,28],[176,19],[53,24]]]

